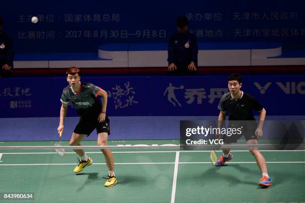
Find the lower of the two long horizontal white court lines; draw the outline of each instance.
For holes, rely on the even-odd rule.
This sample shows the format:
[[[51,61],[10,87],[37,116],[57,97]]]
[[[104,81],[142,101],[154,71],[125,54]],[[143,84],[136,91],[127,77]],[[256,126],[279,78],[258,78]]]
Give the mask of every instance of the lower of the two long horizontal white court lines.
[[[178,152],[177,152],[178,153]],[[179,156],[178,156],[179,158]],[[177,154],[176,154],[176,159],[177,159]],[[298,164],[298,163],[305,163],[305,161],[270,161],[266,162],[267,164]],[[93,163],[92,165],[105,165],[106,163]],[[115,165],[141,165],[141,164],[211,164],[211,162],[142,162],[142,163],[115,163]],[[231,162],[229,164],[256,164],[256,162]],[[0,164],[0,166],[47,166],[47,165],[75,165],[73,164]],[[175,167],[175,170],[178,170]]]

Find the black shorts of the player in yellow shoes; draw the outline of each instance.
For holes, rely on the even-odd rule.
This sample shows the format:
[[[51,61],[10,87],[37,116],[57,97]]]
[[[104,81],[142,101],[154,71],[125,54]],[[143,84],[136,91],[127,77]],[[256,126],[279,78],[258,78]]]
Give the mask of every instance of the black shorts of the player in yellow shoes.
[[[106,117],[103,122],[98,122],[97,120],[87,121],[80,119],[73,132],[77,134],[85,134],[89,136],[94,129],[96,129],[97,134],[101,132],[107,132],[108,135],[110,135],[109,118]]]

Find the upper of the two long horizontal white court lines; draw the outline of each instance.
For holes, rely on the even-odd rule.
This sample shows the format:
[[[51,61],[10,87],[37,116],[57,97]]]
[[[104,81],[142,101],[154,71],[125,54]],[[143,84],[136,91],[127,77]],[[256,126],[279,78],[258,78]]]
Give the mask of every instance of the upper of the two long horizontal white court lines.
[[[305,150],[260,150],[260,152],[304,152]],[[136,151],[136,152],[112,152],[112,153],[118,153],[118,154],[124,154],[124,153],[174,153],[177,151]],[[179,151],[179,152],[211,152],[208,150],[203,151]],[[216,151],[216,152],[222,152],[222,151]],[[232,152],[249,152],[249,150],[232,150]],[[99,152],[86,152],[86,154],[100,154]],[[2,153],[2,154],[57,154],[56,152],[8,152],[8,153]],[[66,152],[66,154],[75,154],[75,152]]]

